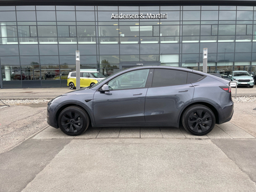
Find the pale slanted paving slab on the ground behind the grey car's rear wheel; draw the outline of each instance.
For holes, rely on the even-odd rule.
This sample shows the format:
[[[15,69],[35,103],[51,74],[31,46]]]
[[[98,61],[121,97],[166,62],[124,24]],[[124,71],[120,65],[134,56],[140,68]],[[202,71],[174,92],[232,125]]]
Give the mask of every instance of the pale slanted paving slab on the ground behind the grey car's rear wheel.
[[[236,125],[227,122],[225,124],[217,125],[222,129],[224,132],[226,132],[228,135],[230,135],[234,139],[253,139],[255,138],[248,132],[244,131],[240,127],[237,127]]]

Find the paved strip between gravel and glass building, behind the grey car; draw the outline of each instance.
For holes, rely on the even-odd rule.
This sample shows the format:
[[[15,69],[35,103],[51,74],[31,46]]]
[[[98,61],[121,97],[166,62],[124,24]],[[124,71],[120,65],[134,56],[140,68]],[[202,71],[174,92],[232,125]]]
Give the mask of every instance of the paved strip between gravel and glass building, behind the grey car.
[[[0,89],[0,99],[53,99],[58,95],[72,92],[66,88],[15,88]],[[232,97],[235,96],[236,88],[232,88]],[[237,96],[255,96],[256,85],[253,88],[239,87],[237,88]]]

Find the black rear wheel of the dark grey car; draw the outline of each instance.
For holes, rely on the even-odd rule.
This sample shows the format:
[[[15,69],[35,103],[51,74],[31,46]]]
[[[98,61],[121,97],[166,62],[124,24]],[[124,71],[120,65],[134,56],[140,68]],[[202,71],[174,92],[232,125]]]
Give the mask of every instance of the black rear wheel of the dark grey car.
[[[212,131],[216,118],[211,109],[204,105],[193,105],[182,115],[182,125],[191,134],[202,136]]]

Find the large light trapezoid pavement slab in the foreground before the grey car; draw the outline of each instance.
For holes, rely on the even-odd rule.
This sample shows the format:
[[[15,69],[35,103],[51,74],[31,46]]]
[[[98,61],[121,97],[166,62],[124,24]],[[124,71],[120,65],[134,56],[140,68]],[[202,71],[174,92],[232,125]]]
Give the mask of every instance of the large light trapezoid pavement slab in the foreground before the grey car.
[[[256,191],[211,140],[72,140],[22,192]]]

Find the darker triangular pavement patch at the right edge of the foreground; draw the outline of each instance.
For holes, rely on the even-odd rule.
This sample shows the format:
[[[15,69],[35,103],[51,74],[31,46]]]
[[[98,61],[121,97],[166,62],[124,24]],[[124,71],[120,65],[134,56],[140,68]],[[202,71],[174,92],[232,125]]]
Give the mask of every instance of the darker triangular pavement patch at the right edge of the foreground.
[[[256,183],[256,140],[212,140]]]

